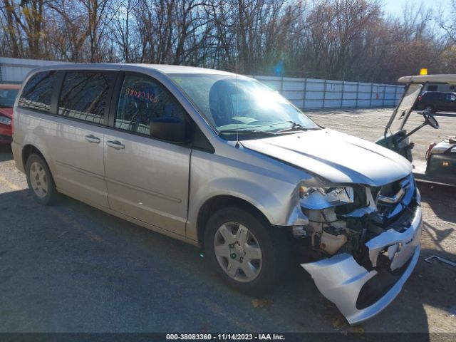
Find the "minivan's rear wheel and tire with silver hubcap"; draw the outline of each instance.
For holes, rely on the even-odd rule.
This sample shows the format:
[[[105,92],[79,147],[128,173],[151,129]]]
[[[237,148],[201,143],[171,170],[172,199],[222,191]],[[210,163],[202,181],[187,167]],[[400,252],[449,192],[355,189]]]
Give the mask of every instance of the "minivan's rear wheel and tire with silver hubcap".
[[[58,192],[51,171],[40,155],[30,155],[26,162],[26,177],[31,196],[39,204],[48,205],[56,201]]]

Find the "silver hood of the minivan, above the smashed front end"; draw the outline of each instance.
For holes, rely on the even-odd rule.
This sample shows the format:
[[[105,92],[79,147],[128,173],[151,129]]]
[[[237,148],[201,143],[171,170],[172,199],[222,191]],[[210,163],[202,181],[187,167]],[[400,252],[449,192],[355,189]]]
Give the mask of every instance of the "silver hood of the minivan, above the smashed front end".
[[[242,145],[301,167],[333,183],[380,186],[412,172],[410,162],[398,153],[327,128],[243,140]]]

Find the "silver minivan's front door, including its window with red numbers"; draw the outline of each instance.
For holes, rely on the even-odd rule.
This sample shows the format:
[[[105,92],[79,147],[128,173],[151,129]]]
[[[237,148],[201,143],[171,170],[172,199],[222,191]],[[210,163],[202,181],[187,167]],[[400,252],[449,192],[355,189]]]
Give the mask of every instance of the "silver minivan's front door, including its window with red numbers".
[[[110,208],[185,235],[189,147],[150,136],[152,119],[185,120],[185,110],[157,81],[126,73],[105,135],[105,180]]]

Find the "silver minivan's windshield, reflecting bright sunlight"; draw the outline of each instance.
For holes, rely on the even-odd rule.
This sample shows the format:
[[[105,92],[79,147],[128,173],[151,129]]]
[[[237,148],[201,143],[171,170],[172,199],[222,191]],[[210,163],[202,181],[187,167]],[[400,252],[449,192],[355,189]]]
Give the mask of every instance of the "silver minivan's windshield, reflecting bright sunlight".
[[[319,129],[271,88],[251,78],[171,74],[188,98],[221,135],[272,135]]]

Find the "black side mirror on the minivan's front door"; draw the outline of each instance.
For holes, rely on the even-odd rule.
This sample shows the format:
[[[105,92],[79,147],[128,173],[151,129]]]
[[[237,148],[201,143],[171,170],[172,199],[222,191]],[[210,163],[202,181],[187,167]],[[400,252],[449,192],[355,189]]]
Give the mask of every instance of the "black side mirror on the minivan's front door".
[[[154,118],[150,124],[150,135],[160,140],[185,143],[186,133],[185,122],[178,118]]]

